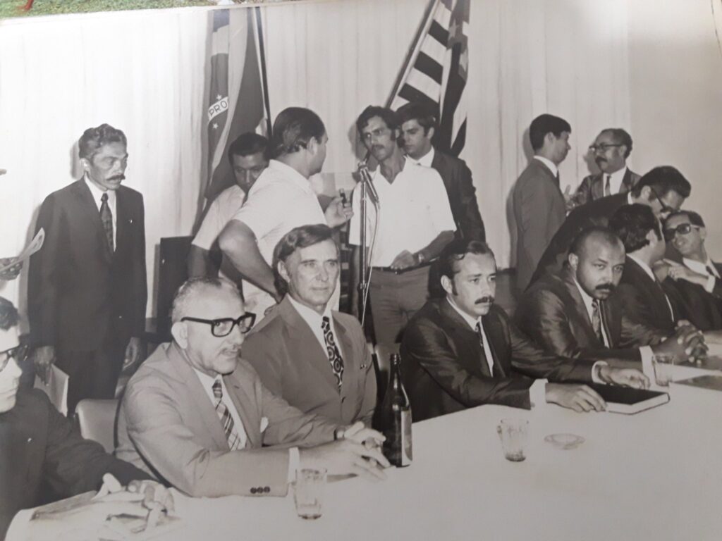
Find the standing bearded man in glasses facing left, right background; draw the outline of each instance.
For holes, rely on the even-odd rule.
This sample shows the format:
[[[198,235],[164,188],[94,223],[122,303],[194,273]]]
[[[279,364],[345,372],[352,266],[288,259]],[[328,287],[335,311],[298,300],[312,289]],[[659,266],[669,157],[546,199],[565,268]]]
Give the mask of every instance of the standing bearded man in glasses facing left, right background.
[[[599,173],[584,177],[574,194],[575,205],[583,205],[616,193],[627,193],[640,179],[640,175],[627,168],[632,152],[632,136],[622,128],[602,130],[589,146]]]

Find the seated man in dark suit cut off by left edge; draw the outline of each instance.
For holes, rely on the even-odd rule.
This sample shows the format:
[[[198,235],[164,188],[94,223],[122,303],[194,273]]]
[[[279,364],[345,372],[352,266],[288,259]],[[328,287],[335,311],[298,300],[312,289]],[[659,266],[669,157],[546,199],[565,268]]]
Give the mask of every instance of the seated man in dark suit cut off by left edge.
[[[48,488],[55,498],[64,498],[97,490],[108,473],[123,485],[149,479],[149,475],[106,453],[95,441],[83,439],[42,391],[18,390],[17,363],[24,348],[19,346],[17,321],[15,307],[0,297],[0,539],[12,521],[9,539],[35,540],[45,538],[46,532],[57,534],[69,519],[57,513],[53,520],[28,522],[32,512],[20,511],[48,503]],[[144,482],[143,493],[146,487],[149,496],[157,491],[152,499],[165,500],[160,485]],[[84,519],[100,523],[108,514],[127,510],[123,502],[115,503],[76,511],[76,515],[82,513]]]

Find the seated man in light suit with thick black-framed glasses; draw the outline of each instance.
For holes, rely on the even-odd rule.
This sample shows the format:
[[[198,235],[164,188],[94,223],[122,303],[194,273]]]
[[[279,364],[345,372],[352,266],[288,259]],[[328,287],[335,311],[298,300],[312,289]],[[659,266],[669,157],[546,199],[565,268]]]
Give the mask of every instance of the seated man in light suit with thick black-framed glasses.
[[[173,342],[159,346],[126,388],[118,457],[191,496],[282,495],[297,467],[384,477],[378,464],[388,461],[363,444],[383,436],[293,408],[240,359],[255,315],[230,281],[191,278],[171,318]]]

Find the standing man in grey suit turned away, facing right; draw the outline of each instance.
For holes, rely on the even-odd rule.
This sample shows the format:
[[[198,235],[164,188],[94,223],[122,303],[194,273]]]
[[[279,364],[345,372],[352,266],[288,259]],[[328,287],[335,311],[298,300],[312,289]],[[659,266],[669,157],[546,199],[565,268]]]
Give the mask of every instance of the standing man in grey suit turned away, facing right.
[[[553,115],[539,115],[529,126],[534,158],[519,176],[512,192],[518,291],[524,291],[529,285],[541,254],[567,215],[557,167],[571,148],[571,131],[566,120]]]

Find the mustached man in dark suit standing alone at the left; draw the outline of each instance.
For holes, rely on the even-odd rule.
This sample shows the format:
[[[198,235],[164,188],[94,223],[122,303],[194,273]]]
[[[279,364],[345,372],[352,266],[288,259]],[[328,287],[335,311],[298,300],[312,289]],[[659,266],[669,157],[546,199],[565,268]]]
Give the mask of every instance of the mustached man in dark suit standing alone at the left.
[[[103,124],[78,146],[83,177],[43,201],[28,285],[35,367],[69,375],[69,414],[113,398],[121,367],[141,359],[147,301],[143,196],[121,186],[126,136]]]

